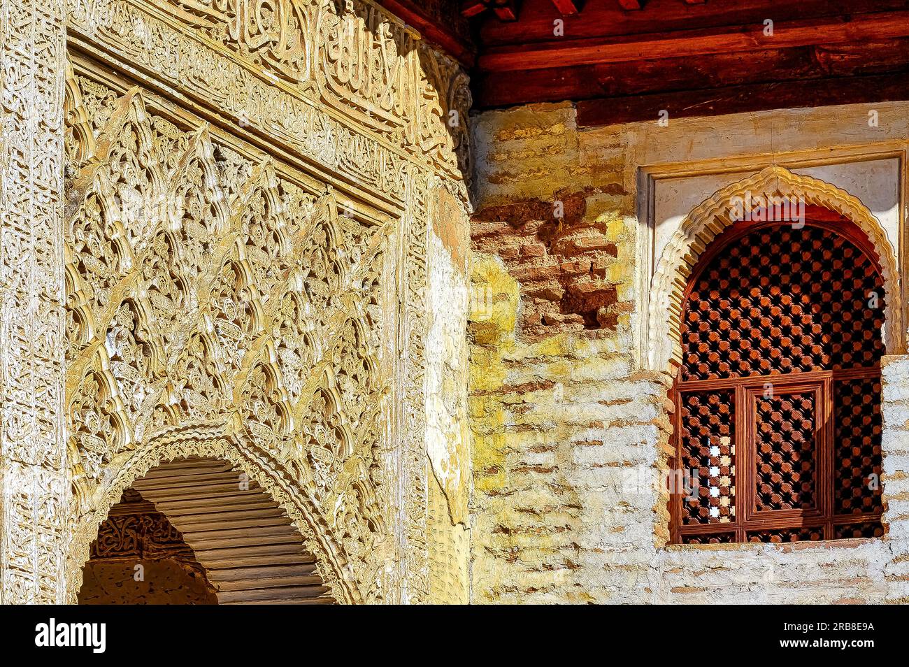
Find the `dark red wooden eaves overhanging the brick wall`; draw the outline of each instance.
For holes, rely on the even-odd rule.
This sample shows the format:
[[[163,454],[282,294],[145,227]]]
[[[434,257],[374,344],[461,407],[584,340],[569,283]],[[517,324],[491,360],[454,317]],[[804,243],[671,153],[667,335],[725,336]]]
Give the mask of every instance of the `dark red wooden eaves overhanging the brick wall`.
[[[480,109],[573,100],[580,123],[612,124],[909,91],[909,0],[383,4],[464,63]]]

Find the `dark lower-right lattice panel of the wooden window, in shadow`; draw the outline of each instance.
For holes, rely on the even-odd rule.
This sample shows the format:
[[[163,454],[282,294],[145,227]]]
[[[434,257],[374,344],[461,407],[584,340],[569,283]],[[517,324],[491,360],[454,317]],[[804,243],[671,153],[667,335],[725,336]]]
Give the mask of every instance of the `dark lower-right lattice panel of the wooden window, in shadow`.
[[[880,509],[879,377],[834,383],[834,424],[834,512],[852,514]]]

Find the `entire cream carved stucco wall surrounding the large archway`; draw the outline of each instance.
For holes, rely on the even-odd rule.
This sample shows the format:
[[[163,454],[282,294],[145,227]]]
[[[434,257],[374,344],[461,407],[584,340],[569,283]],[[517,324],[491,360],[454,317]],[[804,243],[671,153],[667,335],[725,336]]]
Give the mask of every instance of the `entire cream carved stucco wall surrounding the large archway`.
[[[464,600],[464,73],[365,2],[34,5],[4,9],[3,234],[33,227],[3,359],[49,444],[4,431],[4,602],[73,601],[110,506],[191,455],[270,493],[338,600]]]

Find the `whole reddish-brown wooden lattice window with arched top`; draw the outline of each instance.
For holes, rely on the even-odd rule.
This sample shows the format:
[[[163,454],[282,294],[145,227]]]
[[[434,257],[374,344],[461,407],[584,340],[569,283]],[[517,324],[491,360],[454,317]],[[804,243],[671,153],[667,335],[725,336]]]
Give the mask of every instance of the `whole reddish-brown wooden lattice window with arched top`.
[[[877,537],[884,280],[848,220],[734,224],[684,298],[672,541]]]

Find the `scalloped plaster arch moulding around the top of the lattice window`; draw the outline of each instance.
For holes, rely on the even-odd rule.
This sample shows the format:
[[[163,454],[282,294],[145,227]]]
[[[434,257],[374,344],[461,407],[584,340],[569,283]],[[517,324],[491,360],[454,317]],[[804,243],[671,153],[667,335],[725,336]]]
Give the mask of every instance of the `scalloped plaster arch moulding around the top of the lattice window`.
[[[682,358],[681,317],[683,295],[688,277],[707,245],[734,222],[733,199],[751,193],[767,197],[801,197],[854,222],[867,235],[877,254],[884,277],[886,321],[884,344],[887,353],[897,353],[903,345],[900,278],[893,245],[874,214],[852,194],[811,176],[793,174],[774,165],[729,184],[692,209],[666,245],[651,282],[648,309],[648,362],[656,371],[669,370]]]

